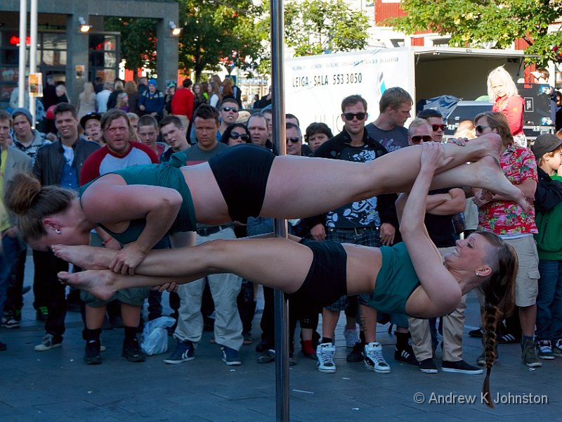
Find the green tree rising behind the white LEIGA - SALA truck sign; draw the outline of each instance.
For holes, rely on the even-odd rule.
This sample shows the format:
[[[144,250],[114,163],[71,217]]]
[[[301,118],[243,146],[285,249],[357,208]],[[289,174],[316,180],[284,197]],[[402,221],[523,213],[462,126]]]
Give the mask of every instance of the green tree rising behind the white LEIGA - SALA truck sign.
[[[285,4],[285,43],[295,56],[312,56],[365,49],[367,16],[344,0],[288,1]]]

